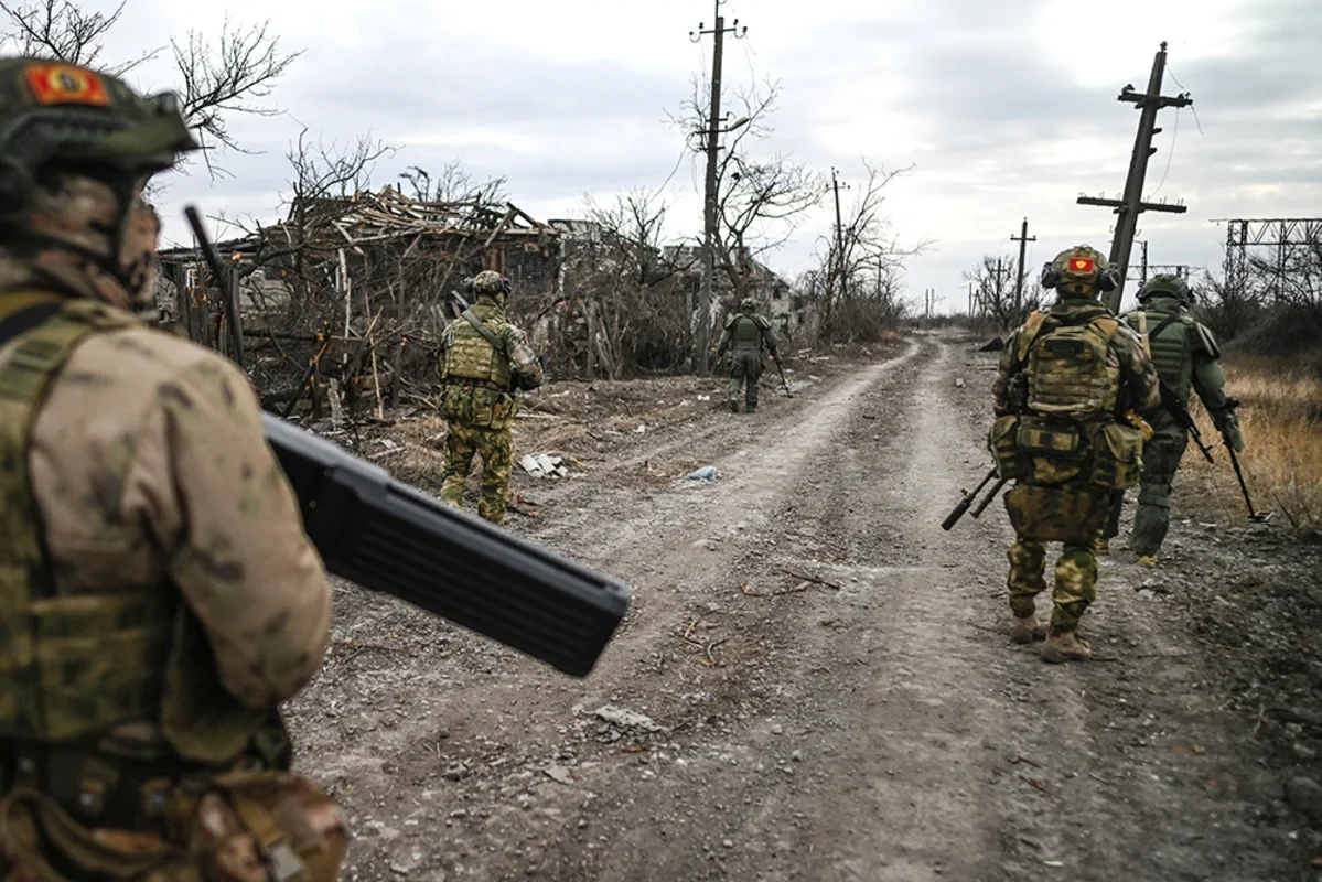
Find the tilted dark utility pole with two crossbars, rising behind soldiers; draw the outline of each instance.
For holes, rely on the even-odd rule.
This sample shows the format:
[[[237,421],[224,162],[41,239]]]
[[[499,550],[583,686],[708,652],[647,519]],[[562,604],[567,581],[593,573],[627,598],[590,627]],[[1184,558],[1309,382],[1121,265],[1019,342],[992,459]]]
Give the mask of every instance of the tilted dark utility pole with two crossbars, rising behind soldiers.
[[[1137,93],[1133,86],[1125,86],[1116,100],[1126,100],[1134,104],[1142,114],[1138,118],[1138,134],[1134,136],[1134,153],[1129,160],[1129,177],[1125,179],[1125,192],[1118,200],[1093,198],[1080,196],[1080,205],[1103,205],[1116,209],[1120,216],[1116,221],[1116,237],[1110,241],[1110,264],[1120,274],[1120,287],[1104,295],[1107,308],[1112,312],[1120,311],[1120,301],[1125,295],[1125,275],[1129,271],[1129,253],[1134,243],[1134,231],[1138,229],[1138,216],[1142,212],[1171,212],[1179,214],[1188,210],[1185,205],[1169,205],[1167,202],[1144,202],[1144,179],[1147,176],[1147,157],[1157,152],[1153,147],[1153,135],[1157,128],[1157,111],[1162,107],[1187,107],[1194,103],[1188,93],[1181,93],[1174,98],[1161,94],[1162,74],[1166,73],[1166,44],[1161,44],[1161,50],[1153,58],[1151,75],[1147,78],[1147,91]]]

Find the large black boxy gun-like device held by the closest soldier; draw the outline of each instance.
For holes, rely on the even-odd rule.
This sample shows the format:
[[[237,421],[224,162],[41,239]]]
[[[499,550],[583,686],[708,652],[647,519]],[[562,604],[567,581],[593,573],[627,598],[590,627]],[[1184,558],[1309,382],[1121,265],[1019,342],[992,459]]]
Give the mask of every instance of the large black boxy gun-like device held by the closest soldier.
[[[213,272],[201,218],[189,225]],[[629,588],[451,508],[271,414],[266,439],[330,573],[584,677],[629,608]]]

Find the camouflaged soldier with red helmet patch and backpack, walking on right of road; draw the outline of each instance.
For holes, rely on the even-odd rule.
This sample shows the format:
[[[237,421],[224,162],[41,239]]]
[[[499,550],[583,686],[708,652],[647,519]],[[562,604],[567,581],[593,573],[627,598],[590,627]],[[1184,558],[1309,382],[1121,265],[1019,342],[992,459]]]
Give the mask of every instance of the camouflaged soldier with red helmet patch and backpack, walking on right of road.
[[[1062,251],[1042,272],[1056,288],[1048,312],[1034,312],[1010,337],[997,374],[990,446],[1002,477],[1017,541],[1010,546],[1010,636],[1042,636],[1034,598],[1046,590],[1046,543],[1059,541],[1051,628],[1042,648],[1050,662],[1091,657],[1076,635],[1096,596],[1093,540],[1110,495],[1138,481],[1142,435],[1121,422],[1129,410],[1158,405],[1157,373],[1138,336],[1101,303],[1118,284],[1105,258],[1087,245]]]

